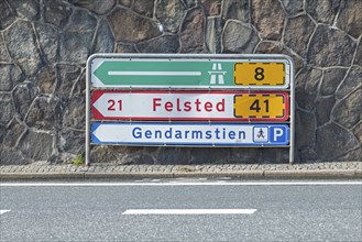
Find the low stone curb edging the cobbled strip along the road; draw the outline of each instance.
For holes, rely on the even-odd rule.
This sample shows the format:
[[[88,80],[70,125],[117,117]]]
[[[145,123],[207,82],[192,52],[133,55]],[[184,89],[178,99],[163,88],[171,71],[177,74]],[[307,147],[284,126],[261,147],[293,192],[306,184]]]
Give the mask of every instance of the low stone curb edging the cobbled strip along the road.
[[[362,170],[326,169],[326,170],[242,170],[242,172],[165,172],[165,173],[2,173],[1,180],[51,180],[51,179],[144,179],[144,178],[220,178],[234,179],[362,179]]]

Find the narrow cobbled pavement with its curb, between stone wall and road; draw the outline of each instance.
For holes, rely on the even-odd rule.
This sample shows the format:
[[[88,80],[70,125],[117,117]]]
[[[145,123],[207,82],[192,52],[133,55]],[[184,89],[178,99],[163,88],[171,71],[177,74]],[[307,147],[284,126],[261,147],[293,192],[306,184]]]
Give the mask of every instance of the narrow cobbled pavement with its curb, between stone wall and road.
[[[177,177],[265,178],[362,178],[362,162],[304,164],[202,164],[202,165],[114,165],[90,166],[48,164],[0,165],[0,179],[143,179]]]

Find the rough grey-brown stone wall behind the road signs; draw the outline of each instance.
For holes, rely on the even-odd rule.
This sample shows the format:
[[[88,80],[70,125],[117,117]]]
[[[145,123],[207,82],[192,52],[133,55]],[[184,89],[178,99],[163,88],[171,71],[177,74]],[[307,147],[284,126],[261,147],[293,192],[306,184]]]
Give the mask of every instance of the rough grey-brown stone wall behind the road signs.
[[[361,0],[0,0],[0,161],[84,154],[92,53],[277,53],[296,64],[296,160],[362,160]],[[285,148],[97,146],[119,164],[285,163]]]

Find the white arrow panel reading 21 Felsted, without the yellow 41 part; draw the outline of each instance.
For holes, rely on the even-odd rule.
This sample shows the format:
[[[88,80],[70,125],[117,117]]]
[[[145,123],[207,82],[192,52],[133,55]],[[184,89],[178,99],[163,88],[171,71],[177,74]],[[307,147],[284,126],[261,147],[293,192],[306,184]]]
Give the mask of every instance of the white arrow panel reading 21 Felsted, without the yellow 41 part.
[[[235,94],[103,92],[92,105],[101,117],[234,118]],[[94,114],[97,117],[97,113]]]

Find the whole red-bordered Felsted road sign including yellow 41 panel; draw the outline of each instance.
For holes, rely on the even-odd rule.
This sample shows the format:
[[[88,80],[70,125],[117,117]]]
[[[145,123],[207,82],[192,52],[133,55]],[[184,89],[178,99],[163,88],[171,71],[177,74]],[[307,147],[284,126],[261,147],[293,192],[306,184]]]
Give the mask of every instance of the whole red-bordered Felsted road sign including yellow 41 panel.
[[[287,92],[95,90],[96,120],[285,121]]]

